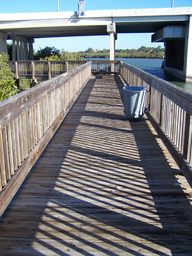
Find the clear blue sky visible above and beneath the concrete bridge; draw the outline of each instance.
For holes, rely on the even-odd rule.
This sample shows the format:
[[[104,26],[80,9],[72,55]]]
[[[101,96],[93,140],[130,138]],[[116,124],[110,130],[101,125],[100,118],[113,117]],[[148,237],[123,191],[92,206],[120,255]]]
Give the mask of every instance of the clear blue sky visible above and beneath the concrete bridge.
[[[7,4],[9,3],[9,4]],[[169,8],[172,0],[86,0],[85,10]],[[174,0],[174,7],[191,7],[192,0]],[[57,11],[57,0],[1,0],[1,13],[39,13]],[[77,11],[77,0],[59,0],[59,11]],[[116,49],[139,48],[140,46],[157,47],[163,43],[151,43],[151,34],[118,34]],[[55,46],[65,51],[85,51],[110,48],[109,36],[79,36],[77,38],[35,39],[34,49]]]

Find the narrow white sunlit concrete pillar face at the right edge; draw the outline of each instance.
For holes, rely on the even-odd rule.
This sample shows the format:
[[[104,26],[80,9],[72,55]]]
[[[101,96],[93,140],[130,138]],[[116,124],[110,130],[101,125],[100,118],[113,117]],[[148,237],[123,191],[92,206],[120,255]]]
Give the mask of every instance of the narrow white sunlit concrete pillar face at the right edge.
[[[192,15],[190,15],[189,24],[186,27],[183,73],[184,73],[184,76],[186,77],[186,82],[191,82],[192,81]]]

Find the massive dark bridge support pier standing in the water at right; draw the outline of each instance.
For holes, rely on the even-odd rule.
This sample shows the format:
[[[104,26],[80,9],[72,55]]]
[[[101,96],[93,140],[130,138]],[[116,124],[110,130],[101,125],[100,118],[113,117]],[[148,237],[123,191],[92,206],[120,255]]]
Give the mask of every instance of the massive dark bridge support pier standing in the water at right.
[[[167,26],[152,35],[152,42],[165,42],[164,71],[184,81],[192,81],[192,15],[186,27]]]

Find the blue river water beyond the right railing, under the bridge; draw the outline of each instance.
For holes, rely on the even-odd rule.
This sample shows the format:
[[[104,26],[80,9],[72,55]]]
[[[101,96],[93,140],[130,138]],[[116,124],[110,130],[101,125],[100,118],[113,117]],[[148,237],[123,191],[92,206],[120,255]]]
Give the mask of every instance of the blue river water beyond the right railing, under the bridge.
[[[88,59],[85,60],[109,60],[109,59]],[[185,89],[187,92],[192,93],[192,82],[181,82],[173,77],[170,77],[164,73],[164,69],[161,68],[162,60],[161,59],[118,59],[124,63],[128,63],[132,66],[142,69],[145,72],[148,72],[154,76],[160,77],[166,81],[172,82],[177,86]]]

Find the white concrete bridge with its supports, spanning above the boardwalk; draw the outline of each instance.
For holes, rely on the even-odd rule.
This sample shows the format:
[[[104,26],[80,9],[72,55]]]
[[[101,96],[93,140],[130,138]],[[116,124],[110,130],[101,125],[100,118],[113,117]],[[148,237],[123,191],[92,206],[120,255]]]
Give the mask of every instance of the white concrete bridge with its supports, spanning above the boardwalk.
[[[166,72],[192,80],[192,7],[128,9],[0,15],[0,52],[12,40],[13,60],[32,60],[35,38],[110,35],[110,60],[115,60],[119,33],[154,32],[152,42],[165,42]]]

